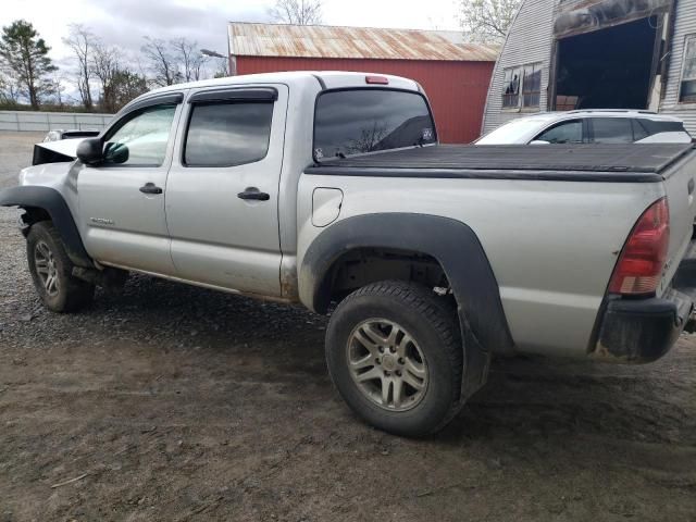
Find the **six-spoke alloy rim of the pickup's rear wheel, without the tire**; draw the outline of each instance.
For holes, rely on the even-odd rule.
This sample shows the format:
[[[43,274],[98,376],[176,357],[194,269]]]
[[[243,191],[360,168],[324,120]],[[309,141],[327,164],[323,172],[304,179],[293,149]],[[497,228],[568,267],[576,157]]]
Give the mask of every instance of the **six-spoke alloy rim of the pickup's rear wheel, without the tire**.
[[[415,339],[399,324],[369,319],[358,324],[346,347],[353,383],[371,402],[388,411],[407,411],[425,396],[428,370]]]

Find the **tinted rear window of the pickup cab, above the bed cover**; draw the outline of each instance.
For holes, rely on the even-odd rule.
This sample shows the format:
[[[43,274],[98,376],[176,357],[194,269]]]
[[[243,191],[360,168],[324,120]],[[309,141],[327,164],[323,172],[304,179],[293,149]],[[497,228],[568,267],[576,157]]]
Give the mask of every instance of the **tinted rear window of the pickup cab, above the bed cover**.
[[[425,98],[389,89],[336,90],[320,95],[314,115],[314,158],[434,144],[435,124]]]

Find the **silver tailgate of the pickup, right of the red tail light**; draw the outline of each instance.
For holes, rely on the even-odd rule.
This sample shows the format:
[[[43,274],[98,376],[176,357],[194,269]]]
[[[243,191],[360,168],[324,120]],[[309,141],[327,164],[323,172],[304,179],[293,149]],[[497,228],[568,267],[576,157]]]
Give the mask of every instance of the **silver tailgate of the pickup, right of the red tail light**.
[[[664,291],[686,256],[696,219],[696,152],[672,165],[663,175],[670,209],[670,246],[660,289]]]

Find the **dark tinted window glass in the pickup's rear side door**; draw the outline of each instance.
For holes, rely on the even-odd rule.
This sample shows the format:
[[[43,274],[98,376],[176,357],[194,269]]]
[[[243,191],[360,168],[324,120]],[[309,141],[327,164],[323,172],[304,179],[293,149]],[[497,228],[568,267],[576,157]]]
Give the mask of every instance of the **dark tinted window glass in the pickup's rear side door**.
[[[187,166],[243,165],[269,152],[273,103],[200,103],[191,111],[184,147]]]

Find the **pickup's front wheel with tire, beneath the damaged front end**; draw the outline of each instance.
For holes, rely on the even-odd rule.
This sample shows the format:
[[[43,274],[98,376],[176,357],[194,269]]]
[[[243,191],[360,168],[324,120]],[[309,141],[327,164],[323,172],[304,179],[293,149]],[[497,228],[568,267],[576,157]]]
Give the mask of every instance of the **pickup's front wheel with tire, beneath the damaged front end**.
[[[67,313],[91,303],[95,285],[72,275],[74,264],[50,221],[34,224],[26,240],[32,279],[46,308]]]

